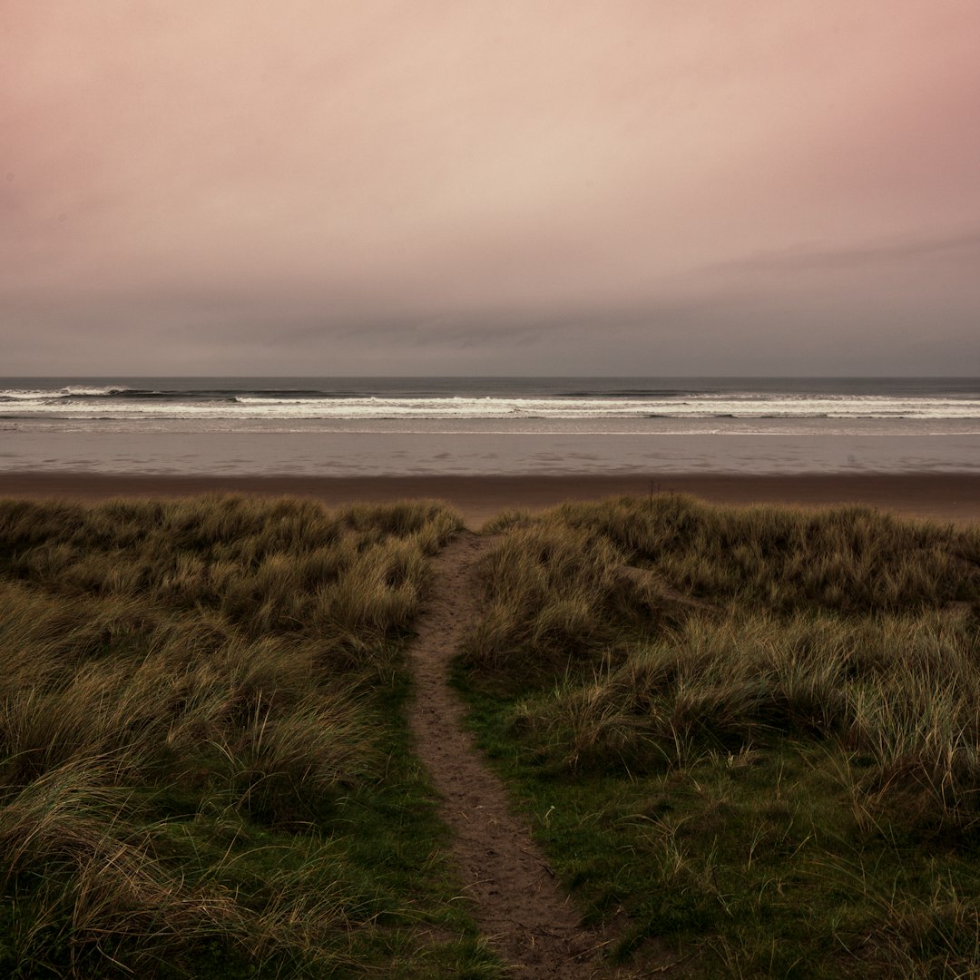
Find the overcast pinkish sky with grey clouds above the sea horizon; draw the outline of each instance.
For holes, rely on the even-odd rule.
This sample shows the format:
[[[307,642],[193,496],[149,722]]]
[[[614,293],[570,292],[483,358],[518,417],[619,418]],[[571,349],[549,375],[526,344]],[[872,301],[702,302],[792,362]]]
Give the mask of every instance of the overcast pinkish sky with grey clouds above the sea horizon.
[[[977,0],[0,0],[0,374],[980,375]]]

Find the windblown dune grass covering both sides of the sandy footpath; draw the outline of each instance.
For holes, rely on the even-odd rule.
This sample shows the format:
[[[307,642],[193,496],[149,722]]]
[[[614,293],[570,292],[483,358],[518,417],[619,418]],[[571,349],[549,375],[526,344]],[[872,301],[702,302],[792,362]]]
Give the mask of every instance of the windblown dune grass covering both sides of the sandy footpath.
[[[496,976],[408,740],[427,502],[0,503],[0,973]],[[706,976],[980,974],[980,534],[503,515],[460,680],[593,918]]]

